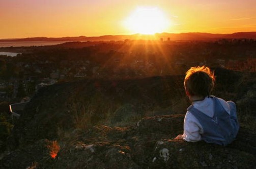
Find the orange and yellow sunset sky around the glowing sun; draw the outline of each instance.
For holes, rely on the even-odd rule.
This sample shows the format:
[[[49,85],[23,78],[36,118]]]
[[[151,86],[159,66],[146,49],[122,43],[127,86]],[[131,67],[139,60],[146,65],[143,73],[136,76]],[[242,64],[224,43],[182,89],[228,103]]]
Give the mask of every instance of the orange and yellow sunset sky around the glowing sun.
[[[137,32],[126,21],[137,9],[160,11],[164,32],[256,31],[255,7],[255,0],[1,0],[0,39],[130,35]]]

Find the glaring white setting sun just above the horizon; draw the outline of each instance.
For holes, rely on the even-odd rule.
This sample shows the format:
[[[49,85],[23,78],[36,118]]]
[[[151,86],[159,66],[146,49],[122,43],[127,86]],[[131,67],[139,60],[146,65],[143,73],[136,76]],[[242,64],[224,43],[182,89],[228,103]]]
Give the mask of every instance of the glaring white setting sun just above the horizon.
[[[124,25],[132,33],[154,34],[166,31],[169,21],[158,8],[140,7],[125,19]]]

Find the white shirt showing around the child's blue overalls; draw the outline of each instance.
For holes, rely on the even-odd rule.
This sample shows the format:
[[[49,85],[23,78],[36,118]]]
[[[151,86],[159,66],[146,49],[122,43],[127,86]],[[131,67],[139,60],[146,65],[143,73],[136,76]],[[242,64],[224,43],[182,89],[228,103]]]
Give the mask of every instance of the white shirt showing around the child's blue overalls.
[[[224,108],[224,110],[230,114],[230,106],[226,103],[222,98],[218,98],[220,104]],[[205,97],[202,101],[193,102],[192,105],[197,110],[200,110],[207,116],[213,117],[214,115],[214,104],[213,98]],[[187,111],[185,119],[184,119],[184,132],[183,139],[188,142],[197,142],[201,140],[201,134],[204,133],[204,129],[200,122],[192,115],[189,111]]]

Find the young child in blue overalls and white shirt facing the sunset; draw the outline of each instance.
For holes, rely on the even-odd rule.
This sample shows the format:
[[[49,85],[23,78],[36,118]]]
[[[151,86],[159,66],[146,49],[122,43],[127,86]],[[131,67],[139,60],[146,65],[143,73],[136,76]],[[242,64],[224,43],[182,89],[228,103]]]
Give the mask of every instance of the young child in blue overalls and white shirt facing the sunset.
[[[203,140],[223,146],[235,140],[239,130],[236,104],[211,96],[214,82],[209,67],[191,67],[187,71],[184,85],[192,105],[184,119],[184,133],[176,139]]]

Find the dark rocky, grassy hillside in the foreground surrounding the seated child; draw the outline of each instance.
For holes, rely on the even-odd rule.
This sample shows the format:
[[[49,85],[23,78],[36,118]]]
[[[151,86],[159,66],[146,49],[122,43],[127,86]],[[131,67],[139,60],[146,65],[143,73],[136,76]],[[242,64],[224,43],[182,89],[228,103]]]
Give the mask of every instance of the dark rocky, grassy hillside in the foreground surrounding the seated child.
[[[215,69],[213,94],[238,105],[227,147],[174,138],[188,99],[183,75],[85,79],[41,88],[8,140],[1,168],[253,168],[256,75]]]

